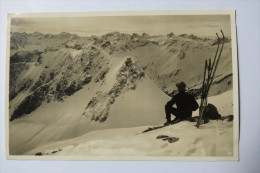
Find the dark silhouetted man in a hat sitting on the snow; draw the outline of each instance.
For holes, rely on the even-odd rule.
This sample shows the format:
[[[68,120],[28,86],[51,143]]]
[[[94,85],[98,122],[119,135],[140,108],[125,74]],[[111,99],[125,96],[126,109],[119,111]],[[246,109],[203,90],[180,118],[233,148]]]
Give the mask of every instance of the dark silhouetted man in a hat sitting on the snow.
[[[192,111],[199,108],[195,97],[185,92],[186,84],[184,82],[177,83],[176,86],[178,88],[178,94],[173,96],[165,105],[167,122],[164,125],[176,124],[180,121],[191,119]],[[176,104],[177,109],[172,107],[174,104]],[[173,121],[171,121],[171,114],[175,116]]]

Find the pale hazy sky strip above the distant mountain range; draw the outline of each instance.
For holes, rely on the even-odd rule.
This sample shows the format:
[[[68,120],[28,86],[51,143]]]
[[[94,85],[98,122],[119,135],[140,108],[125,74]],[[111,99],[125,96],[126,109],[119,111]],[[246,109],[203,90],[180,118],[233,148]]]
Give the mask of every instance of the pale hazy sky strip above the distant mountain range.
[[[97,16],[13,18],[11,32],[75,33],[80,36],[103,35],[108,32],[148,33],[165,35],[173,32],[215,36],[222,29],[231,35],[229,15],[157,15],[157,16]]]

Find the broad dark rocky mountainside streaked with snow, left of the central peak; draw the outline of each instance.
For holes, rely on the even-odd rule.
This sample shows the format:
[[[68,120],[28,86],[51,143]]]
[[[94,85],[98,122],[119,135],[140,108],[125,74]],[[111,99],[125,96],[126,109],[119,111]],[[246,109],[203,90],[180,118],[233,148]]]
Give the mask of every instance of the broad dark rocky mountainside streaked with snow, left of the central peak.
[[[66,97],[73,95],[84,85],[90,83],[93,74],[99,73],[97,79],[103,80],[109,71],[107,68],[101,68],[105,67],[109,59],[101,53],[100,48],[95,46],[90,46],[77,55],[66,50],[59,50],[59,52],[47,50],[47,52],[51,53],[46,54],[45,52],[42,56],[42,52],[39,51],[18,51],[11,57],[9,98],[12,100],[18,94],[26,93],[27,95],[14,107],[14,112],[10,116],[11,121],[31,113],[44,101],[47,103],[62,102]],[[21,72],[26,74],[26,70],[33,66],[33,62],[39,62],[39,59],[53,55],[64,55],[63,61],[56,66],[45,65],[46,62],[43,65],[39,64],[34,67],[42,71],[39,77],[35,77],[34,80],[31,77],[23,77],[21,81],[17,82]],[[55,59],[55,57],[53,58]]]

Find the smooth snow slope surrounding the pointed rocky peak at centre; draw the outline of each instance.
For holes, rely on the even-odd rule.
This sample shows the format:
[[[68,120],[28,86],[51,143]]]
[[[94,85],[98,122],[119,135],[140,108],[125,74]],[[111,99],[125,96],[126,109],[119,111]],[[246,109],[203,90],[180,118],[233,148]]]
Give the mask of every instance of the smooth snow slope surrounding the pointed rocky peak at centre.
[[[96,129],[161,123],[164,104],[169,97],[145,76],[139,76],[131,83],[134,74],[131,75],[128,70],[124,71],[124,64],[128,60],[129,58],[111,59],[111,70],[102,81],[93,80],[63,102],[43,102],[29,115],[11,121],[11,154],[23,154],[34,147],[70,139]],[[139,73],[134,62],[129,69],[135,69],[136,71],[132,72]],[[127,72],[128,76],[121,77],[123,72]],[[119,84],[118,80],[125,83]],[[133,85],[135,88],[131,88]],[[99,98],[100,95],[102,97]],[[88,108],[88,105],[93,103],[91,100],[96,98],[100,100]],[[113,102],[107,102],[111,99]],[[154,107],[151,109],[150,105]],[[91,114],[87,116],[89,112]],[[105,121],[100,117],[105,117]]]

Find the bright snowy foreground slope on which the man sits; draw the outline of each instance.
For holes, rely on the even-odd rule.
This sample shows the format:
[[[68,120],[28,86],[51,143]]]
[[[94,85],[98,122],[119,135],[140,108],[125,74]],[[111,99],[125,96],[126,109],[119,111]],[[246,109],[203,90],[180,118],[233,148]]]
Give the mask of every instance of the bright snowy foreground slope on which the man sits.
[[[227,98],[222,102],[222,97]],[[211,97],[222,116],[232,114],[232,91]],[[196,113],[193,116],[197,115]],[[235,115],[236,116],[236,115]],[[199,129],[195,122],[142,133],[149,126],[96,130],[66,141],[48,144],[26,152],[53,156],[232,156],[233,122],[214,120]],[[160,124],[158,124],[160,125]],[[173,142],[160,139],[174,137]],[[158,139],[159,138],[159,139]]]

